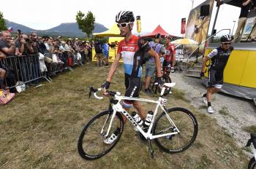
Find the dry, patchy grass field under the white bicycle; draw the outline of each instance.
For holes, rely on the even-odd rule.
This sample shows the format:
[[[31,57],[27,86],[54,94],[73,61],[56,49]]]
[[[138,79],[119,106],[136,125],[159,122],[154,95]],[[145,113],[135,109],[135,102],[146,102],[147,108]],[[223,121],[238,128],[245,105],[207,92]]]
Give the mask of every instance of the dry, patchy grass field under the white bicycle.
[[[232,136],[215,119],[190,106],[186,93],[179,90],[167,96],[167,107],[185,107],[199,123],[197,140],[187,151],[167,154],[153,144],[156,157],[152,160],[147,144],[127,123],[109,154],[99,160],[83,160],[77,152],[80,130],[94,114],[108,108],[108,99],[89,99],[88,89],[105,82],[108,69],[91,65],[75,68],[51,83],[43,82],[42,87],[18,93],[15,100],[1,106],[0,168],[246,168],[248,157]],[[110,89],[124,93],[121,66]],[[140,97],[149,98],[143,93]]]

